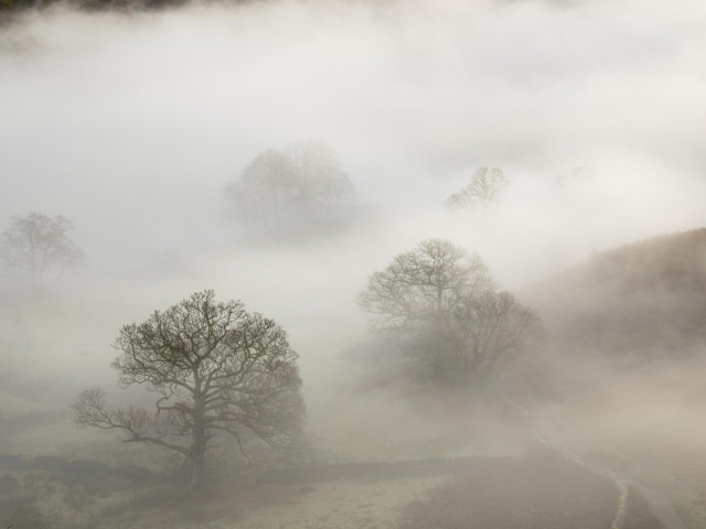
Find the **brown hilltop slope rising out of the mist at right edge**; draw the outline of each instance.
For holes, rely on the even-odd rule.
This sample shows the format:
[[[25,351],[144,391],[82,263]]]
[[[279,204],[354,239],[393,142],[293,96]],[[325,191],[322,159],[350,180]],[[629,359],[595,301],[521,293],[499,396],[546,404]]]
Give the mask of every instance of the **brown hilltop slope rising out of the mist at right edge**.
[[[704,350],[706,228],[600,253],[525,298],[555,337],[581,350],[640,357]]]

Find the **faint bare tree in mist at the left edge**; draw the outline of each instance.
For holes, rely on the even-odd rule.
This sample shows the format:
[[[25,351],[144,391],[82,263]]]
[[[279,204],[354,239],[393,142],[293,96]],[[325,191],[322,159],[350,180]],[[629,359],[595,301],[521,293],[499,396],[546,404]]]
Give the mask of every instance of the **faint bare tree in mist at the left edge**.
[[[82,267],[86,257],[68,238],[72,229],[72,222],[61,215],[15,215],[0,235],[0,260],[6,273],[28,281],[36,295],[46,279]]]

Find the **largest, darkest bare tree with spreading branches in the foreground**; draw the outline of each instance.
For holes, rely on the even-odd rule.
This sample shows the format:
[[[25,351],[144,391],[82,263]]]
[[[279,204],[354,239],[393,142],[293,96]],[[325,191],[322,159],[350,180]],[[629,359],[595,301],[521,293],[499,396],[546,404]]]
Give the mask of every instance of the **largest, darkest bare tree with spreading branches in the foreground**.
[[[298,355],[272,320],[248,313],[243,303],[216,303],[197,292],[146,322],[125,325],[113,363],[124,386],[157,392],[156,413],[130,406],[109,408],[99,388],[74,404],[78,424],[126,432],[183,454],[192,486],[203,479],[205,455],[218,432],[232,435],[245,455],[248,436],[270,445],[291,443],[304,408]]]

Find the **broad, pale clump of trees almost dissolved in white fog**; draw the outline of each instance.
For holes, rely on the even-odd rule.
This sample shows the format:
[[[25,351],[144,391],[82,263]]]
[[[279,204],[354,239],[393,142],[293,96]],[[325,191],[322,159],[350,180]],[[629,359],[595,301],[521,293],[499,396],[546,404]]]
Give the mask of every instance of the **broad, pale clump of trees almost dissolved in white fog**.
[[[261,152],[226,187],[235,217],[264,230],[333,220],[353,195],[335,153],[313,141]]]

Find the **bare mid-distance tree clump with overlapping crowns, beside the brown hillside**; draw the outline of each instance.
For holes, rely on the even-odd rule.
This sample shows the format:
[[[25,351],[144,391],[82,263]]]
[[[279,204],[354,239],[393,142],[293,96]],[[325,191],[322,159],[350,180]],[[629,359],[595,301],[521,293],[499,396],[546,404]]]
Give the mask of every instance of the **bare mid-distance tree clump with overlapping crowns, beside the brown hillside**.
[[[396,333],[421,378],[485,384],[507,350],[522,348],[538,316],[501,291],[478,256],[430,239],[370,276],[359,304],[374,330]]]

